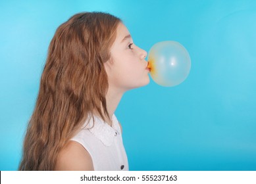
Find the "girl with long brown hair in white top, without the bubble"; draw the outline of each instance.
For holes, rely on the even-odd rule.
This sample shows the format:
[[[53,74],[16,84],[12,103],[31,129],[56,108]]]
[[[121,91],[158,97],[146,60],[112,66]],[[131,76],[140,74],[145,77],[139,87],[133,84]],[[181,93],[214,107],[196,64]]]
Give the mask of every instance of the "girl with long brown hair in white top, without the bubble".
[[[19,170],[128,170],[114,113],[126,91],[149,83],[146,55],[111,14],[79,13],[59,26]]]

